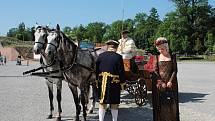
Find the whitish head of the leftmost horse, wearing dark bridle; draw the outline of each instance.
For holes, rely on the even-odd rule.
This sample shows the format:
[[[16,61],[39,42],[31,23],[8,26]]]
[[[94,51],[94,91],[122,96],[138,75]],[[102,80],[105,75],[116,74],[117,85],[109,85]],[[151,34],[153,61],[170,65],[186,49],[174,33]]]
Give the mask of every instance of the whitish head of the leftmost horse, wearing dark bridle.
[[[47,44],[48,26],[39,26],[36,24],[34,33],[34,53],[40,54],[45,50]]]

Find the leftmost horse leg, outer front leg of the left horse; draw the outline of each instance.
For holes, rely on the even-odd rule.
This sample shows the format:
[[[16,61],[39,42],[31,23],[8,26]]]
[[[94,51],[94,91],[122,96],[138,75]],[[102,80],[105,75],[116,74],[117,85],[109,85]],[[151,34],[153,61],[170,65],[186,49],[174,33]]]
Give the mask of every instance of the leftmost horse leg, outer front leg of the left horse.
[[[46,81],[46,85],[48,86],[48,91],[49,91],[49,104],[50,104],[50,114],[48,115],[47,119],[52,118],[52,113],[54,110],[54,105],[53,105],[53,83],[49,82],[48,80]]]

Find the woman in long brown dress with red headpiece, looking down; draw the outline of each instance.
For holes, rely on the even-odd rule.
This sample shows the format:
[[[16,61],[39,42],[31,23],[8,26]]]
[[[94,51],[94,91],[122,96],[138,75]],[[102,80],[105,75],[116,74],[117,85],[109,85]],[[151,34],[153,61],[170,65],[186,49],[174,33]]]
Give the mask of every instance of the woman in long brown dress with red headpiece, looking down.
[[[179,121],[176,56],[169,51],[166,38],[158,38],[155,45],[160,54],[155,56],[152,75],[153,118],[154,121]]]

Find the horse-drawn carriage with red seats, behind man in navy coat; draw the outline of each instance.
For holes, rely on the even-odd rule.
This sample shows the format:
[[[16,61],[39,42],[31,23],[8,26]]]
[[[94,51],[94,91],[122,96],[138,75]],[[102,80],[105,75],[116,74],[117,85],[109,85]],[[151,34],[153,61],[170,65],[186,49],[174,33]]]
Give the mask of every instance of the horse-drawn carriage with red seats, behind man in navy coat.
[[[139,106],[146,103],[147,91],[152,91],[152,60],[153,56],[148,56],[144,51],[138,51],[131,60],[123,60],[128,85],[126,90],[134,96],[135,103]]]

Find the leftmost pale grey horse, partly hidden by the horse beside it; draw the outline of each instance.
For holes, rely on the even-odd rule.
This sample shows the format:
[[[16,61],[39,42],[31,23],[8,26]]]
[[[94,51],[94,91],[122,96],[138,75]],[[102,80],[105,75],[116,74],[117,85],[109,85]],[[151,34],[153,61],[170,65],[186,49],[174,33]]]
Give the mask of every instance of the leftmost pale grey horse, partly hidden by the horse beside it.
[[[50,58],[49,56],[46,56],[44,51],[47,45],[47,35],[48,35],[48,27],[38,26],[35,27],[35,33],[34,33],[34,53],[40,54],[40,63],[41,66],[47,66],[47,68],[44,69],[46,72],[50,72],[53,70],[59,69],[59,62],[56,60],[57,57]],[[58,77],[63,77],[62,73],[58,72],[53,74]],[[47,119],[53,118],[53,111],[54,111],[54,105],[53,105],[53,84],[56,84],[57,87],[57,102],[58,102],[58,114],[57,114],[57,120],[61,120],[61,90],[62,90],[62,80],[63,78],[46,78],[46,85],[48,86],[48,92],[49,92],[49,101],[50,101],[50,113],[47,117]]]

